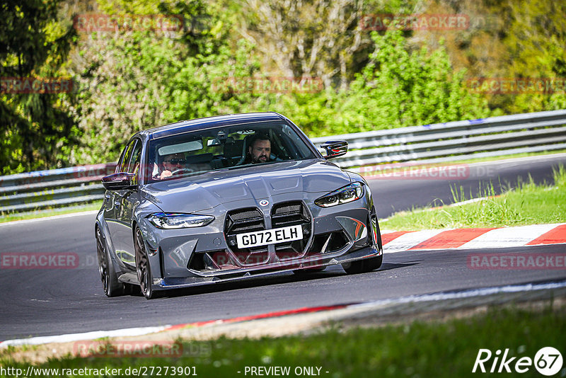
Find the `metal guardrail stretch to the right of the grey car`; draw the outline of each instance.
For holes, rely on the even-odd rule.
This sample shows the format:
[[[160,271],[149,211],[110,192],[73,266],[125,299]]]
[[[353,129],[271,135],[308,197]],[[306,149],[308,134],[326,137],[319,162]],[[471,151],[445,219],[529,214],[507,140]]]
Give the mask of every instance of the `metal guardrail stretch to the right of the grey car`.
[[[566,149],[566,110],[504,115],[312,138],[344,139],[349,151],[333,162],[354,168],[393,162],[435,164],[489,156]]]

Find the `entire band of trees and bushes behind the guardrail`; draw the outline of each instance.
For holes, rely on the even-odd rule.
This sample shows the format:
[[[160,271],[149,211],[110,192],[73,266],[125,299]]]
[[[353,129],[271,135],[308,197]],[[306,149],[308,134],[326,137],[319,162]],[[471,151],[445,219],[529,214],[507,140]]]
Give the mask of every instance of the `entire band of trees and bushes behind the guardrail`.
[[[564,79],[566,8],[560,2],[289,4],[4,1],[0,77],[70,74],[78,91],[0,93],[1,173],[115,161],[138,130],[224,113],[275,110],[315,137],[566,108],[565,91],[470,93],[465,84],[470,75]],[[185,23],[175,33],[81,35],[73,48],[69,9],[79,8],[108,15],[180,15]],[[410,14],[417,8],[500,22],[441,33],[359,28],[364,15]],[[315,77],[323,88],[241,91],[233,83],[270,77]]]

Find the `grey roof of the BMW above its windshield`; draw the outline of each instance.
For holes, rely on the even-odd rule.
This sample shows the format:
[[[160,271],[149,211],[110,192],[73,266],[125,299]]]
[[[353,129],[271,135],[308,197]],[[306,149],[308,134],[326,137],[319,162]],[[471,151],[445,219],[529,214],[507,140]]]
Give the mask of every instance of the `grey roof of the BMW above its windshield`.
[[[265,122],[276,120],[287,120],[287,118],[284,118],[282,115],[275,112],[215,115],[214,117],[197,118],[196,120],[185,120],[170,123],[168,125],[145,130],[141,133],[146,134],[149,139],[157,139],[161,137],[168,137],[170,135],[181,134],[183,132],[206,130],[212,127],[238,125],[245,122]]]

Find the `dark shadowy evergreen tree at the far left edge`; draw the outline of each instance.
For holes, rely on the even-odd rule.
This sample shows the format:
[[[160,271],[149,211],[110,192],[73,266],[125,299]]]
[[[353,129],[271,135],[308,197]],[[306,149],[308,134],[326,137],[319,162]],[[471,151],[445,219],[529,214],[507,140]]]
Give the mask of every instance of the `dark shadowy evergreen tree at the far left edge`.
[[[0,77],[59,76],[74,30],[57,25],[59,0],[3,1],[0,6]],[[69,164],[65,147],[76,142],[62,94],[0,94],[0,174]]]

